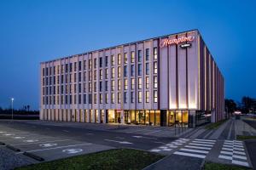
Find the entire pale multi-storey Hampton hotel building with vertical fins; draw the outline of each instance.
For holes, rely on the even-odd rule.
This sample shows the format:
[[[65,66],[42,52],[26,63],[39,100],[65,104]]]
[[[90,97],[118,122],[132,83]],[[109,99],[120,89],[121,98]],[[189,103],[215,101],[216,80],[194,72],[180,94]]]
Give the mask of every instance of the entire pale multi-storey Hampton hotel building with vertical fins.
[[[195,127],[224,119],[224,77],[198,30],[42,62],[40,119]]]

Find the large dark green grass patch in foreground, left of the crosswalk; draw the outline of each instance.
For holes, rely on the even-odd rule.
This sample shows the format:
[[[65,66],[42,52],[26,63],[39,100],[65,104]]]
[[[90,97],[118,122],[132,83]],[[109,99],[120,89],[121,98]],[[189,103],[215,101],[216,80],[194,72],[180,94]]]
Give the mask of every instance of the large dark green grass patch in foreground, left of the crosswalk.
[[[56,161],[47,161],[15,170],[61,170],[61,169],[143,169],[164,156],[143,150],[106,150],[83,156],[73,156]]]

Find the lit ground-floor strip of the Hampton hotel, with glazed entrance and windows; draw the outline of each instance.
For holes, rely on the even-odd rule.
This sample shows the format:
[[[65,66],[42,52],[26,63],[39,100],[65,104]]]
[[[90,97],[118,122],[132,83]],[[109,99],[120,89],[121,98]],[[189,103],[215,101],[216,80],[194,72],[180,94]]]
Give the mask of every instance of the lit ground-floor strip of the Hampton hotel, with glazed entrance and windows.
[[[71,110],[43,109],[41,120],[195,127],[211,120],[206,111],[189,110]],[[210,118],[209,118],[210,117]]]

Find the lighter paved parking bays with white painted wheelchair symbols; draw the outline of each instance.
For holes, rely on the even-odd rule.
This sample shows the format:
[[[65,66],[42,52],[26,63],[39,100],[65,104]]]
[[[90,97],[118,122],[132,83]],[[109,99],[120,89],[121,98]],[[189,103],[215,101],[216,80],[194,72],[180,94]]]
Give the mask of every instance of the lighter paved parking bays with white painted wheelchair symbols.
[[[1,126],[0,130],[0,142],[4,144],[1,147],[8,147],[12,151],[16,150],[15,154],[17,156],[27,160],[34,159],[37,161],[52,161],[68,156],[113,149],[113,147],[102,144],[92,144],[74,139],[61,138],[60,136],[52,137],[38,133],[28,133],[3,126]]]

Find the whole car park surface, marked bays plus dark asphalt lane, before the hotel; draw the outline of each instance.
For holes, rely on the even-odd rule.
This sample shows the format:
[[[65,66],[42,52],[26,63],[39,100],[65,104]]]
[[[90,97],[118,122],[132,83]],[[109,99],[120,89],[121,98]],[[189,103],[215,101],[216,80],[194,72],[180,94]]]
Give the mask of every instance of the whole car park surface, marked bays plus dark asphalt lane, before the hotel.
[[[33,125],[15,121],[0,122],[0,150],[9,150],[29,163],[52,161],[114,148],[150,150],[172,140],[98,129]]]

